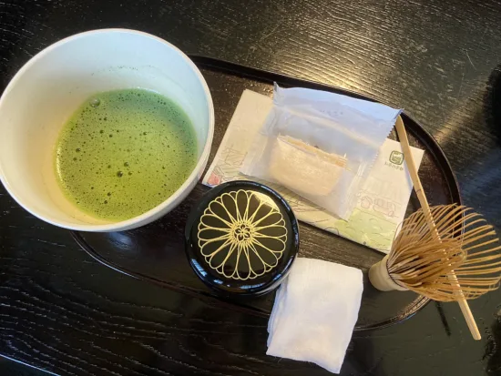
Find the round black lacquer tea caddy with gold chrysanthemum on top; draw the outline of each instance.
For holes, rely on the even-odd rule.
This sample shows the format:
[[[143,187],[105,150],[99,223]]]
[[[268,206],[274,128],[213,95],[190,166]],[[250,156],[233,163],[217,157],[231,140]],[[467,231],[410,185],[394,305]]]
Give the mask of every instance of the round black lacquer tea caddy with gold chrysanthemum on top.
[[[204,195],[185,228],[189,264],[223,296],[258,296],[276,288],[299,249],[298,222],[277,192],[232,181]]]

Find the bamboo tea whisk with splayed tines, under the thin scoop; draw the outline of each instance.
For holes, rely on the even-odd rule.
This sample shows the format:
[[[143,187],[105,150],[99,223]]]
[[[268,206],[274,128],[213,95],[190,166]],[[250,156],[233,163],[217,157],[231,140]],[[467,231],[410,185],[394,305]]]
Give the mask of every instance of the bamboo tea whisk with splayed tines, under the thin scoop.
[[[462,206],[435,206],[430,214],[432,226],[423,209],[404,220],[388,256],[371,269],[373,284],[382,290],[394,290],[396,284],[396,290],[440,301],[474,299],[496,290],[501,246],[492,226]]]

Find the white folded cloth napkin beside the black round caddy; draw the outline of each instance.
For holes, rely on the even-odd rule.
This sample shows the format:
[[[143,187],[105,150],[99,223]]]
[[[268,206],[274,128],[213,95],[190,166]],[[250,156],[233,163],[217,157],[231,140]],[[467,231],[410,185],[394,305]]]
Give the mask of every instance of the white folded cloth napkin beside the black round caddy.
[[[296,259],[275,297],[266,353],[312,361],[339,373],[362,291],[359,269],[321,259]]]

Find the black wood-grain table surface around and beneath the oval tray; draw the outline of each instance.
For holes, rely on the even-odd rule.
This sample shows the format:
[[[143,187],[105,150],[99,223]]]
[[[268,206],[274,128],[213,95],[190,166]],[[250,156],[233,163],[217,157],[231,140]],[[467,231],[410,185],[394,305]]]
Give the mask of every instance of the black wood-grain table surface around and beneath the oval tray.
[[[1,86],[56,40],[101,27],[353,89],[404,107],[449,158],[465,204],[501,230],[501,3],[491,0],[6,0]],[[50,93],[48,93],[49,95]],[[1,137],[1,135],[0,135]],[[343,375],[501,375],[501,291],[353,335]],[[320,375],[267,357],[265,318],[107,269],[0,187],[0,374]]]

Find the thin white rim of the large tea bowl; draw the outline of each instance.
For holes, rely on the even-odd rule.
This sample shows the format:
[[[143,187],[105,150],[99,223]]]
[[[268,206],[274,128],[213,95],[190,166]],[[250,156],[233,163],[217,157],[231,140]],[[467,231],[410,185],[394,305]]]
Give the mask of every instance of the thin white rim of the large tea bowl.
[[[205,81],[205,78],[202,76],[201,72],[199,71],[199,68],[193,63],[193,61],[187,56],[184,52],[182,52],[177,46],[172,45],[165,39],[162,39],[158,36],[153,36],[151,34],[138,31],[138,30],[133,30],[133,29],[127,29],[127,28],[104,28],[104,29],[97,29],[97,30],[89,30],[83,33],[78,33],[73,36],[67,36],[64,39],[61,39],[57,41],[56,43],[47,46],[44,48],[42,51],[37,53],[35,56],[31,57],[24,66],[22,66],[16,73],[15,76],[10,80],[8,85],[5,87],[4,93],[2,94],[2,97],[0,97],[0,112],[2,111],[2,108],[4,107],[5,104],[5,97],[9,95],[9,93],[12,91],[13,87],[16,85],[17,81],[20,79],[21,76],[23,76],[28,69],[30,69],[32,66],[34,66],[37,61],[43,57],[46,56],[47,54],[51,53],[54,49],[56,49],[59,46],[63,46],[67,43],[71,43],[74,40],[80,39],[80,38],[85,38],[87,36],[93,36],[93,35],[98,35],[98,34],[109,34],[109,33],[118,33],[118,34],[129,34],[129,35],[137,35],[137,36],[144,36],[149,39],[156,40],[163,44],[164,46],[167,46],[171,49],[173,49],[179,56],[183,58],[183,60],[186,62],[186,64],[191,68],[192,72],[199,78],[199,82],[203,88],[204,94],[207,98],[208,106],[209,106],[209,129],[208,129],[208,135],[207,135],[207,140],[205,142],[205,145],[203,147],[202,153],[197,161],[197,165],[191,173],[189,174],[189,177],[185,179],[184,183],[171,195],[169,198],[167,198],[165,201],[162,203],[158,204],[155,208],[151,208],[147,212],[140,214],[139,216],[129,218],[126,220],[121,220],[118,222],[113,222],[113,223],[107,223],[107,224],[77,224],[77,223],[72,223],[64,220],[58,220],[56,218],[51,218],[50,216],[46,215],[41,215],[38,213],[35,209],[30,208],[26,203],[23,202],[21,198],[19,198],[15,194],[15,188],[12,187],[9,183],[7,178],[5,177],[5,172],[2,168],[2,161],[0,160],[0,181],[4,184],[5,189],[7,192],[11,195],[12,198],[15,199],[15,201],[23,208],[25,208],[30,214],[34,215],[36,218],[40,218],[47,223],[50,223],[52,225],[55,225],[57,227],[61,227],[64,229],[73,229],[73,230],[78,230],[78,231],[97,231],[97,232],[109,232],[109,231],[117,231],[117,230],[123,230],[123,229],[132,229],[136,228],[138,226],[141,226],[140,224],[144,222],[144,224],[147,224],[149,222],[149,218],[159,218],[161,216],[161,213],[165,211],[166,208],[169,206],[172,206],[172,208],[175,208],[180,202],[180,200],[184,199],[183,195],[186,195],[189,189],[189,186],[193,184],[193,182],[196,182],[199,180],[199,176],[201,176],[201,173],[203,172],[203,169],[207,165],[207,161],[209,159],[210,155],[210,147],[212,146],[212,139],[214,137],[214,105],[212,102],[212,97],[210,96],[210,90],[209,86],[207,85],[207,82]],[[5,163],[5,162],[4,162]],[[172,209],[170,208],[170,209]],[[167,214],[167,212],[166,212]]]

